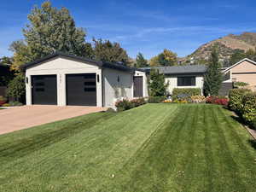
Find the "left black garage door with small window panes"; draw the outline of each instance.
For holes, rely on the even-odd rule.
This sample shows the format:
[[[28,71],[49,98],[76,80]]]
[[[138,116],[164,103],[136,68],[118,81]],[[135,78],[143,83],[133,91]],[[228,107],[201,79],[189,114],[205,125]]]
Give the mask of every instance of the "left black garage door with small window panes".
[[[56,75],[32,76],[32,104],[57,104]]]

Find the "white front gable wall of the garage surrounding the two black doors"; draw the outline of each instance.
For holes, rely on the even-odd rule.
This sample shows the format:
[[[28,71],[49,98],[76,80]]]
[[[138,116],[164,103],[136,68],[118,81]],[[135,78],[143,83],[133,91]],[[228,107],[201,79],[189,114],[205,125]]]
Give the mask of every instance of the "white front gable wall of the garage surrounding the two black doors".
[[[32,75],[57,75],[57,101],[59,106],[65,106],[66,101],[66,74],[73,73],[96,73],[102,79],[102,69],[90,63],[83,63],[56,57],[49,61],[44,61],[37,66],[26,69],[26,104],[32,105]],[[96,83],[96,105],[102,107],[102,81]]]

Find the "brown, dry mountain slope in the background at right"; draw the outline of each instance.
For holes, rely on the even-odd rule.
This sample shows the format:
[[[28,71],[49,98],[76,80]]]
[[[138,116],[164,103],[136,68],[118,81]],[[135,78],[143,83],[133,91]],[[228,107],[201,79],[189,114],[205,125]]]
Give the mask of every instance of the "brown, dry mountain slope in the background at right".
[[[215,39],[207,44],[201,45],[191,55],[186,56],[186,62],[204,62],[211,55],[212,47],[216,46],[219,52],[220,61],[230,58],[236,49],[247,51],[256,47],[256,32],[243,32],[241,35],[230,34],[223,38]]]

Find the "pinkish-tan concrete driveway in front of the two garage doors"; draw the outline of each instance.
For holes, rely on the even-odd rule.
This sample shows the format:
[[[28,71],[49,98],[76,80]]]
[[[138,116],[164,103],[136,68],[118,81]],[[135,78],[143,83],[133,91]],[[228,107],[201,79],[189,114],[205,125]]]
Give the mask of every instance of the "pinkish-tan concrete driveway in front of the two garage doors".
[[[58,107],[52,105],[33,105],[3,109],[0,110],[0,134],[103,110],[105,108]]]

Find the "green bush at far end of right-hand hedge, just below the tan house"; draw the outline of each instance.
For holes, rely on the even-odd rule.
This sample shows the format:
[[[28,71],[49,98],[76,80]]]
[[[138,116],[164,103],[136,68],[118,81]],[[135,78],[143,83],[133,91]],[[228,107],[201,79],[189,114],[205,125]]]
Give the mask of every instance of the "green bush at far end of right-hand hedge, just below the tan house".
[[[251,90],[247,89],[233,89],[230,90],[229,97],[230,97],[230,102],[229,102],[229,108],[233,111],[235,111],[238,114],[242,113],[242,98],[245,96],[247,93],[251,92]]]

